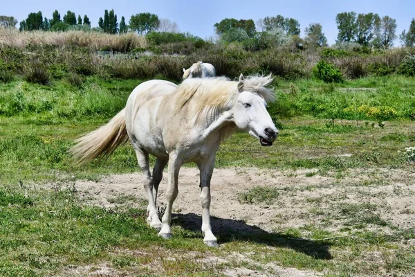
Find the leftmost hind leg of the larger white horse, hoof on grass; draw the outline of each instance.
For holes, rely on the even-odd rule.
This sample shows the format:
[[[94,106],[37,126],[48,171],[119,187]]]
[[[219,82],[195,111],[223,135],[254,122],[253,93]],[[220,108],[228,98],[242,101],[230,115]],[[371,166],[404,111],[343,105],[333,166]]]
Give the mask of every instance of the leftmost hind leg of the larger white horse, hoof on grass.
[[[151,227],[160,230],[161,222],[158,219],[155,197],[153,195],[153,178],[151,178],[150,174],[149,153],[136,149],[136,156],[138,166],[141,168],[142,183],[144,184],[144,189],[147,192],[147,199],[149,199],[149,206],[147,207],[147,223]]]

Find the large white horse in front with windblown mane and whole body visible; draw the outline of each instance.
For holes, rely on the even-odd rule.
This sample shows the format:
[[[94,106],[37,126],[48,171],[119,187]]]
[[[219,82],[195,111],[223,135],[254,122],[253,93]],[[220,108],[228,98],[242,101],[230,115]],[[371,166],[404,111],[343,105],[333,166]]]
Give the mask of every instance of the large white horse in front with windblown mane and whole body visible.
[[[239,81],[227,78],[193,78],[176,86],[164,80],[139,84],[127,105],[107,125],[77,139],[71,149],[80,162],[111,154],[118,145],[131,141],[142,171],[149,199],[147,223],[158,235],[172,235],[172,206],[178,194],[178,172],[183,163],[194,162],[200,170],[203,241],[217,246],[210,226],[210,179],[221,141],[237,128],[272,145],[278,130],[266,110],[273,90],[266,89],[270,75]],[[151,176],[149,154],[156,157]],[[167,207],[160,222],[156,200],[163,169],[169,164],[165,193]]]

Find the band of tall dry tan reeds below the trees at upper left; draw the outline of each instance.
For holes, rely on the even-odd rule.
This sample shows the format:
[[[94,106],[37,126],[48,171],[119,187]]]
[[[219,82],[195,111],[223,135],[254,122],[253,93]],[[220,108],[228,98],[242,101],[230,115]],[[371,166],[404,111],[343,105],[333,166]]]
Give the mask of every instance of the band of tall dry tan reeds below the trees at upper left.
[[[71,30],[68,32],[44,32],[42,30],[20,32],[18,30],[9,31],[6,28],[0,28],[0,44],[17,48],[25,48],[28,45],[80,46],[94,51],[113,50],[127,52],[134,48],[146,48],[147,39],[136,33],[110,35],[93,31],[84,32],[82,30]]]

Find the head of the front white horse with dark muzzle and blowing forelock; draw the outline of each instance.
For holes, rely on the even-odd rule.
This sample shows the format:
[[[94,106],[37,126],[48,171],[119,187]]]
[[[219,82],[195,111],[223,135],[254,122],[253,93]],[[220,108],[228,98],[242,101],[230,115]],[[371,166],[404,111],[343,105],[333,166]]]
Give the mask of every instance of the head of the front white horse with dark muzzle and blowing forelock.
[[[239,93],[232,107],[237,127],[259,139],[263,146],[273,145],[278,135],[278,130],[266,110],[266,102],[275,97],[273,91],[265,88],[272,80],[270,75],[245,79],[241,74],[238,82]]]

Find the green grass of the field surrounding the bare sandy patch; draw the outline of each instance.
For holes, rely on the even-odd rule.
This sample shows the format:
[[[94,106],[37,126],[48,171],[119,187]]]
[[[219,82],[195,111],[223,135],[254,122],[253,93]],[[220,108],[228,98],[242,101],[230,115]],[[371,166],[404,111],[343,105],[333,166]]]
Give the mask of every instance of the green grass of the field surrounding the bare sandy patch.
[[[280,130],[273,147],[261,147],[248,134],[237,132],[221,145],[216,168],[255,167],[290,172],[306,168],[312,169],[302,173],[306,179],[331,175],[339,181],[353,168],[412,170],[405,148],[415,143],[415,122],[407,117],[407,112],[415,107],[415,90],[409,85],[413,80],[389,76],[341,84],[344,88],[374,87],[358,92],[313,80],[295,82],[295,95],[290,91],[280,93],[279,104],[270,106]],[[107,123],[122,109],[139,83],[89,77],[80,87],[59,80],[48,86],[15,80],[0,87],[1,276],[50,276],[87,265],[109,265],[119,272],[147,276],[154,275],[147,265],[156,266],[163,276],[221,276],[222,269],[236,267],[266,271],[269,262],[322,271],[327,276],[370,276],[378,274],[378,267],[385,275],[414,272],[413,247],[405,244],[415,238],[413,230],[385,220],[379,204],[343,202],[346,195],[331,199],[338,204],[329,208],[324,206],[324,197],[304,199],[310,214],[321,218],[321,226],[266,232],[245,224],[248,232],[232,229],[215,233],[222,247],[208,249],[199,229],[180,218],[173,222],[174,238],[160,239],[145,224],[146,211],[128,208],[129,202],[140,201],[133,195],[111,197],[107,201],[116,208],[102,208],[86,206],[70,189],[39,188],[45,182],[71,184],[78,179],[97,181],[112,173],[138,172],[136,156],[128,144],[109,159],[85,166],[74,165],[67,151],[74,139]],[[277,89],[289,90],[289,82],[279,83]],[[350,102],[374,107],[388,105],[396,109],[398,116],[388,120],[385,127],[372,127],[371,123],[376,122],[373,118],[338,113],[333,121],[333,113],[318,108],[338,103],[333,107],[340,111]],[[332,187],[297,185],[258,186],[236,197],[252,206],[279,202],[283,205],[288,193]],[[389,181],[382,177],[349,184],[356,190],[387,185]],[[401,190],[396,188],[394,193],[402,193]],[[365,197],[362,193],[369,192],[360,192]],[[341,228],[336,229],[338,222],[342,223]],[[244,224],[236,220],[233,223]],[[235,252],[246,253],[247,259],[232,258]],[[380,253],[382,259],[368,260],[374,253]],[[175,258],[169,259],[171,255]],[[195,256],[219,257],[226,262],[200,263]]]

